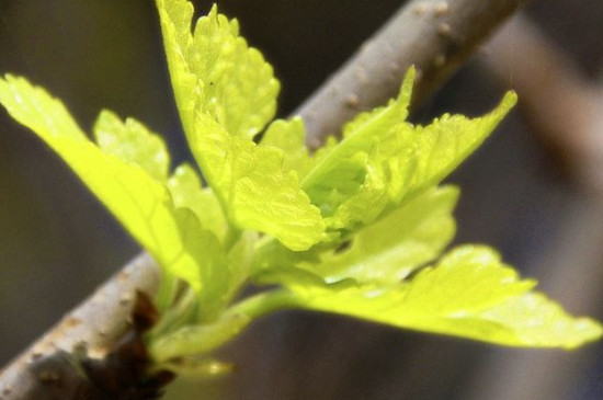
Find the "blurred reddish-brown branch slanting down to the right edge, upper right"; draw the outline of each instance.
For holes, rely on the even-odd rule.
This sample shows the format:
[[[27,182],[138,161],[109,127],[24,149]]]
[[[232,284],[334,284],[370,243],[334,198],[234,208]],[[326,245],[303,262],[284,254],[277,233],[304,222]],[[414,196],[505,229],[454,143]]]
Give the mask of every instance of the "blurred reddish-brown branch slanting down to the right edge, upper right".
[[[520,106],[539,138],[562,158],[580,183],[602,192],[600,85],[589,82],[571,58],[526,18],[511,21],[494,36],[488,52],[488,67],[504,84],[512,77]]]

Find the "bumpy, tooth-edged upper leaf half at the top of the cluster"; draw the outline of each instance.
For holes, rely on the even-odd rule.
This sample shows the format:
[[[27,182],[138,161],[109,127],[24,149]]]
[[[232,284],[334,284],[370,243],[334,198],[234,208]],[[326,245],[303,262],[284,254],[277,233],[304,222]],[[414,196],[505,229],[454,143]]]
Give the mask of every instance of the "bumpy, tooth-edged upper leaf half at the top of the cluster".
[[[203,80],[205,111],[231,135],[252,138],[274,117],[280,84],[262,54],[214,5],[193,35],[192,70]]]

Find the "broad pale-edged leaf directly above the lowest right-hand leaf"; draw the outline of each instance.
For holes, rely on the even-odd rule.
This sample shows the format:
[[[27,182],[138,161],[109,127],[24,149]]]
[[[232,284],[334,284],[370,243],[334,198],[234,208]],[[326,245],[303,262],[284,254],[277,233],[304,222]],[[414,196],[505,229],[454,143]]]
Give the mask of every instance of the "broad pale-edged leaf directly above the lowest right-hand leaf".
[[[434,187],[361,229],[349,249],[323,255],[311,271],[327,282],[398,283],[435,259],[455,232],[458,190]]]

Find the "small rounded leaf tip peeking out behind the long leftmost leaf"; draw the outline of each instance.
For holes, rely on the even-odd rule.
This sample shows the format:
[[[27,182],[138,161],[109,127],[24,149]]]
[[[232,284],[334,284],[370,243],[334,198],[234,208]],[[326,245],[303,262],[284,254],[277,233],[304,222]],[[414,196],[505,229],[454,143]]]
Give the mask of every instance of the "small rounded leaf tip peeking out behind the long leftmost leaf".
[[[170,155],[163,139],[134,118],[126,122],[111,111],[99,115],[93,128],[103,152],[134,162],[158,181],[168,179]]]

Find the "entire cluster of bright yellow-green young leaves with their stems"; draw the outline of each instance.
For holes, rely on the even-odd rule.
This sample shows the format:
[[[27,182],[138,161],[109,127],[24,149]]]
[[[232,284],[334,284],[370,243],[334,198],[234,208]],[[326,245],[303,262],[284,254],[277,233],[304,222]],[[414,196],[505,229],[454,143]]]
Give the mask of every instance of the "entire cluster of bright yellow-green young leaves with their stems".
[[[103,111],[93,140],[64,104],[14,76],[0,103],[56,151],[161,266],[158,365],[223,370],[208,354],[284,308],[511,345],[571,348],[601,336],[483,245],[445,251],[459,191],[441,182],[515,104],[476,118],[407,121],[414,71],[387,105],[310,153],[299,117],[273,121],[272,67],[217,7],[193,25],[157,0],[183,130],[196,164],[171,168],[143,123]],[[262,134],[262,135],[260,135]],[[265,287],[240,298],[252,283]]]

